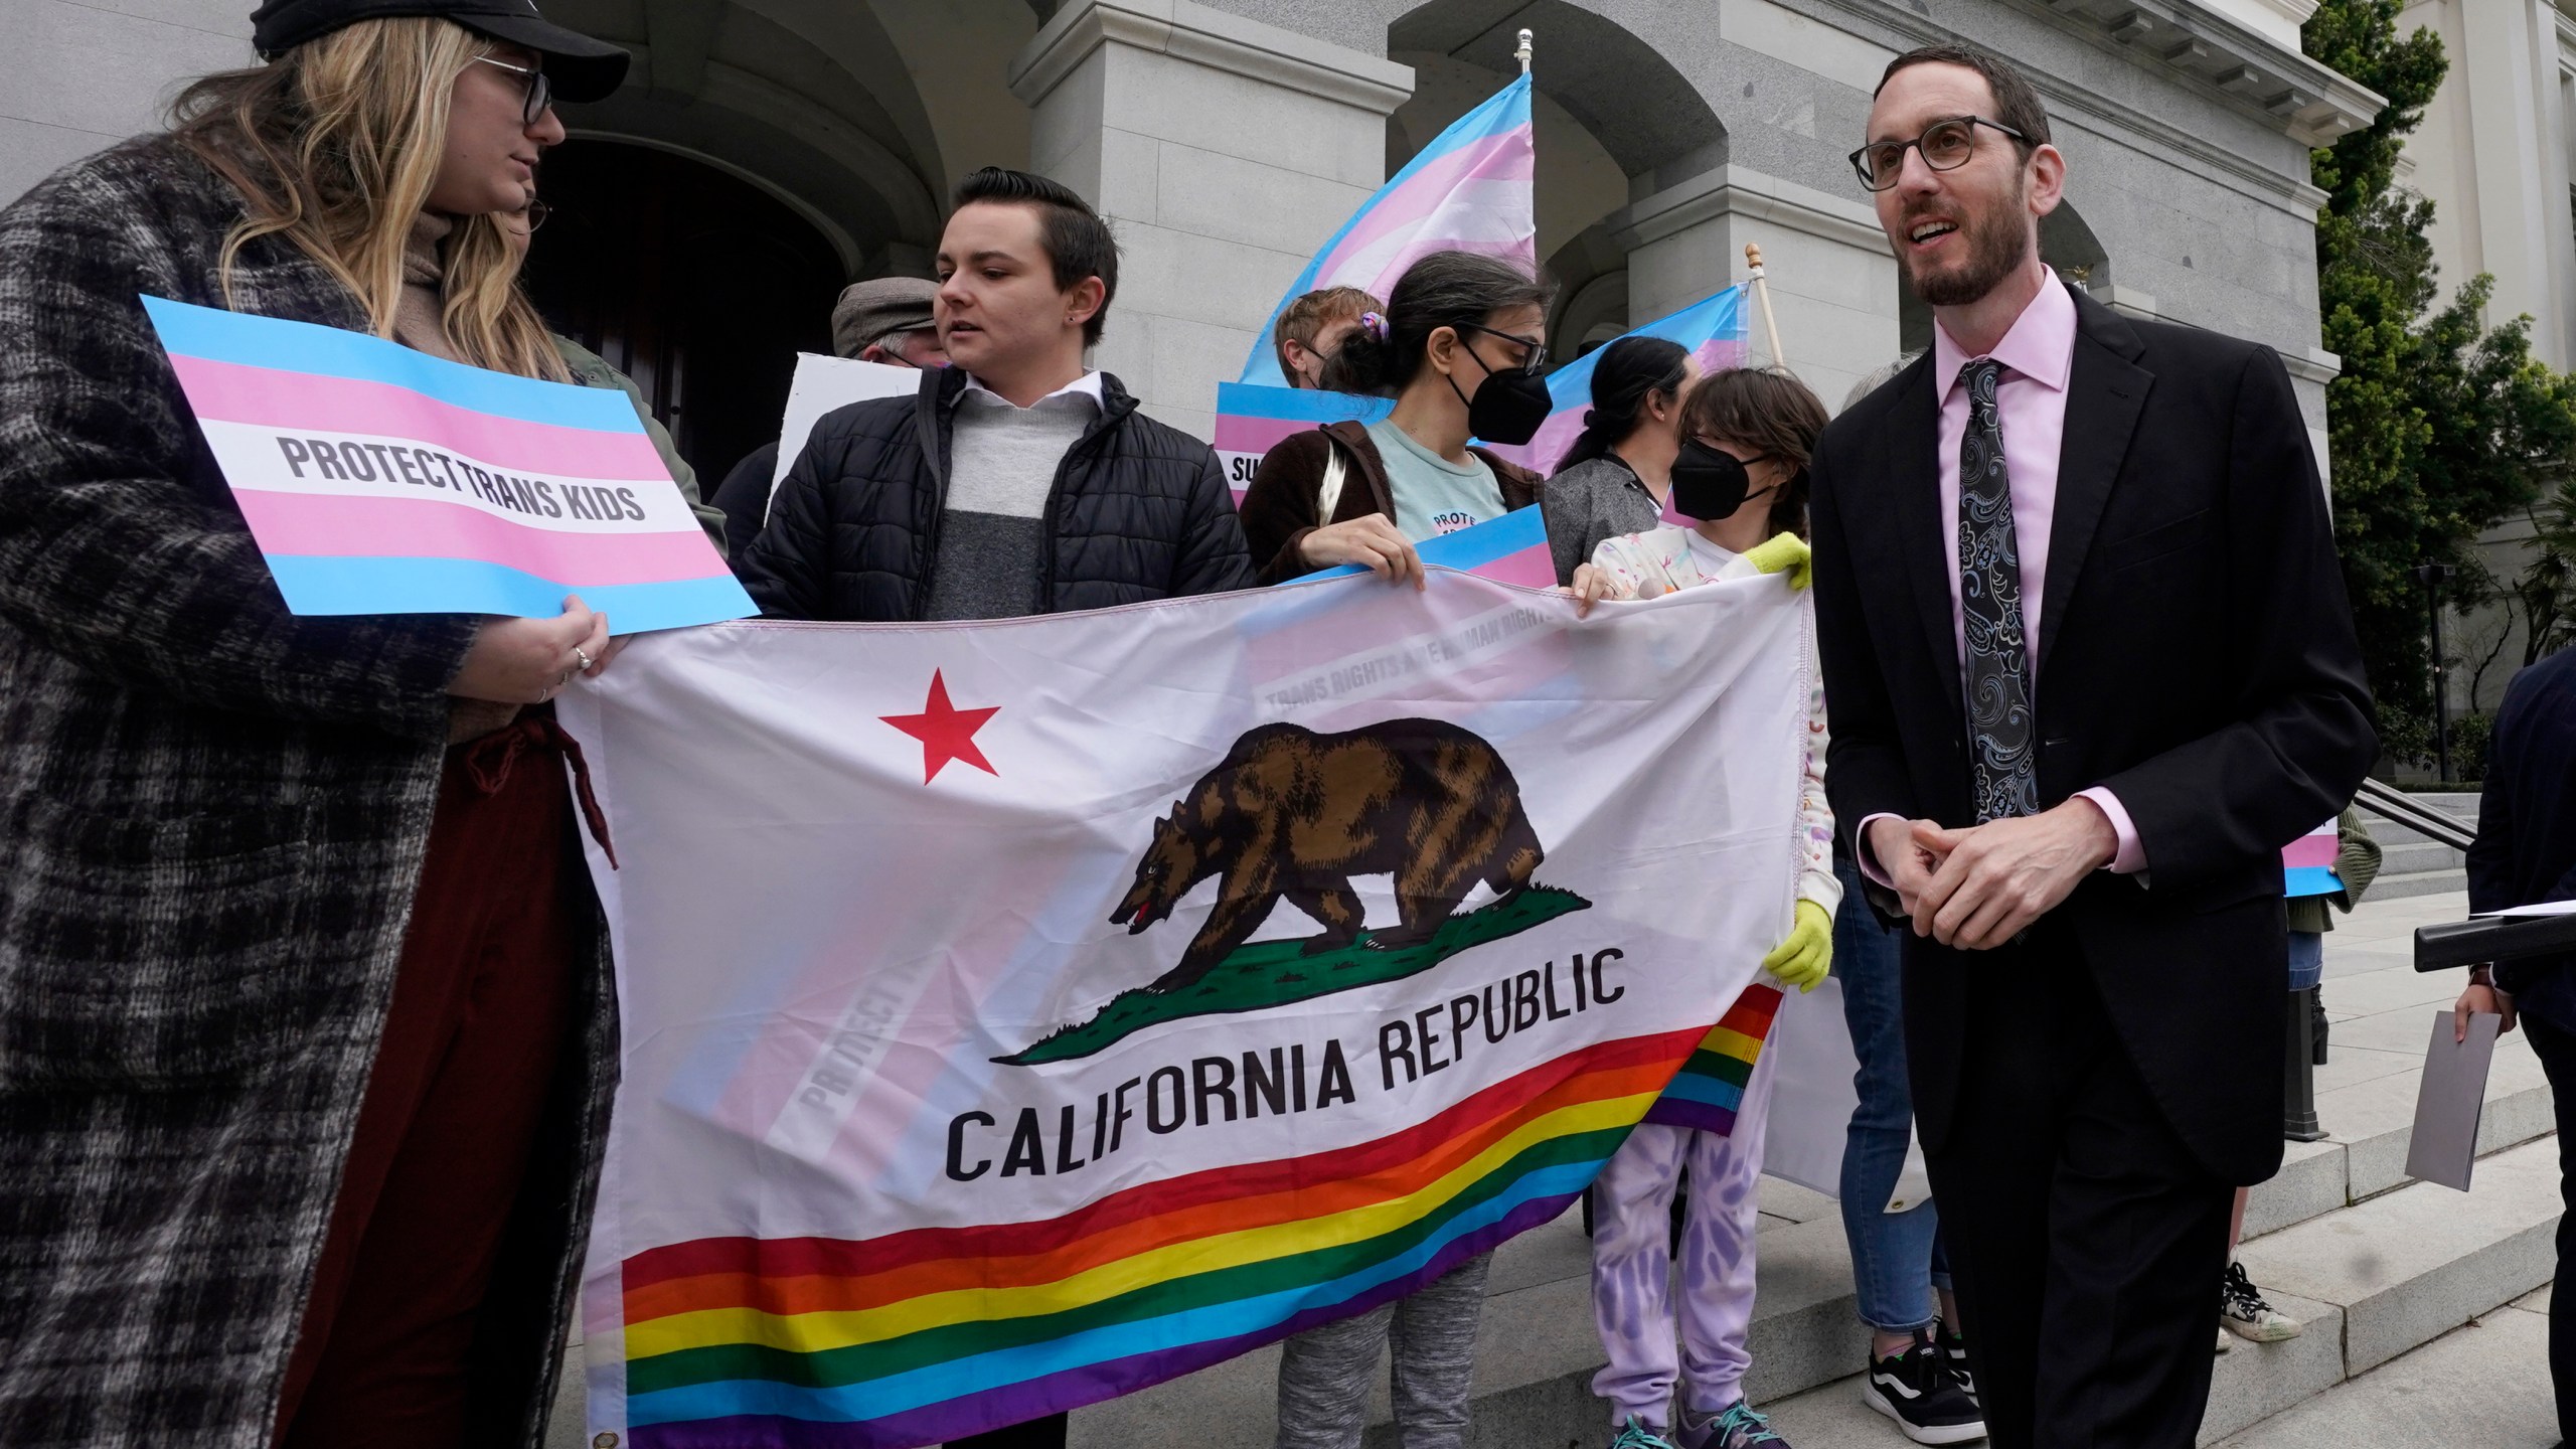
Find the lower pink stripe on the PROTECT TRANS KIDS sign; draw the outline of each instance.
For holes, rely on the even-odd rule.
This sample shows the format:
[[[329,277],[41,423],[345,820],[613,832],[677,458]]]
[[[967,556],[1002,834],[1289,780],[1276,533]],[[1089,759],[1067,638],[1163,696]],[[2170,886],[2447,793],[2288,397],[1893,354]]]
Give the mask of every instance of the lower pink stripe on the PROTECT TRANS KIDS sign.
[[[265,554],[479,559],[567,588],[721,578],[706,534],[567,534],[495,518],[443,498],[337,498],[237,490]]]

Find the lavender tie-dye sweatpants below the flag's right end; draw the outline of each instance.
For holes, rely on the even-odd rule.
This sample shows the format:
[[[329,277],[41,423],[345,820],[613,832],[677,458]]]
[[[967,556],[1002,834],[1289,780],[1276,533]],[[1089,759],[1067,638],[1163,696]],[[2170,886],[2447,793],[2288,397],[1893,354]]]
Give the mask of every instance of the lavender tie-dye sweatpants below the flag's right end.
[[[1592,1318],[1610,1364],[1592,1392],[1610,1400],[1610,1428],[1633,1413],[1672,1428],[1672,1390],[1692,1415],[1741,1397],[1744,1330],[1754,1315],[1754,1222],[1762,1178],[1762,1119],[1777,1052],[1762,1052],[1744,1083],[1734,1134],[1641,1122],[1592,1181]],[[1682,1222],[1680,1305],[1672,1302],[1672,1189],[1690,1168]]]

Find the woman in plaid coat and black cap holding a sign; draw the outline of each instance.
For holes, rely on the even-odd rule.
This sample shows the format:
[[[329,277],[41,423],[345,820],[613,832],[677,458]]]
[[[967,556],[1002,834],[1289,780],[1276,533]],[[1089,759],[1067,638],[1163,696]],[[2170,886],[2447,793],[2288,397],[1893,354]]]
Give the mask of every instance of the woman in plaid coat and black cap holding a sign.
[[[510,10],[270,0],[0,211],[13,1449],[541,1436],[616,1075],[541,701],[608,621],[291,616],[137,302],[562,379],[489,211],[623,52]]]

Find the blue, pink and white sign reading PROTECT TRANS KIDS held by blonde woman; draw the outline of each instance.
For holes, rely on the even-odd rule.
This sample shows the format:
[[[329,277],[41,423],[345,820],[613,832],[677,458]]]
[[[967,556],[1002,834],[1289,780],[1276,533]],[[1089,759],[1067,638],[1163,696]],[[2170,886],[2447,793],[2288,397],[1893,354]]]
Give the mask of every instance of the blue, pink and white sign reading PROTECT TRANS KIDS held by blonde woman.
[[[623,392],[144,297],[296,614],[755,614]]]

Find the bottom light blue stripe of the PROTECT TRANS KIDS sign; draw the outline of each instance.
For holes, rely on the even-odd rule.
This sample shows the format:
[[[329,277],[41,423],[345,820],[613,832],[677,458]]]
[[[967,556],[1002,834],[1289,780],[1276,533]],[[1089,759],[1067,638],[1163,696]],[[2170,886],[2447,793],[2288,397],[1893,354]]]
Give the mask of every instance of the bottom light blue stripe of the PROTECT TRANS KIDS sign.
[[[479,559],[384,559],[268,554],[268,572],[296,614],[518,614],[554,619],[564,596],[608,614],[618,634],[719,624],[760,614],[734,575],[672,583],[598,583],[567,588],[505,565]]]

